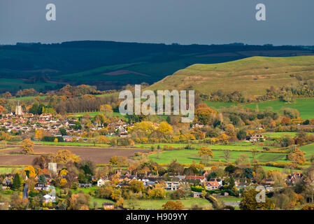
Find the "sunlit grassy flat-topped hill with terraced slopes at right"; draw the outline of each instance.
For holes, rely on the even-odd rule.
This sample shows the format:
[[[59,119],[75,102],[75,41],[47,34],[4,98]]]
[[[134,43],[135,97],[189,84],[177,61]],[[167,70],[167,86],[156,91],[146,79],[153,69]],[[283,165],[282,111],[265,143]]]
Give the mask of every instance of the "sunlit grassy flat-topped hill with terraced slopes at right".
[[[248,57],[220,64],[194,64],[150,86],[152,90],[198,90],[208,94],[238,90],[259,96],[266,89],[314,79],[314,56]]]

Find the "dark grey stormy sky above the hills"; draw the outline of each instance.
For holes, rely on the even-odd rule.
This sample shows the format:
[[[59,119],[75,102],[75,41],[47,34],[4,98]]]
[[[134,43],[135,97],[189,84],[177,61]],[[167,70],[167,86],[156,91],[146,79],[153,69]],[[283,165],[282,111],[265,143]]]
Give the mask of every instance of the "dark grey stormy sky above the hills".
[[[55,3],[57,21],[45,20]],[[255,20],[257,3],[265,22]],[[0,44],[75,40],[314,45],[313,0],[0,0]]]

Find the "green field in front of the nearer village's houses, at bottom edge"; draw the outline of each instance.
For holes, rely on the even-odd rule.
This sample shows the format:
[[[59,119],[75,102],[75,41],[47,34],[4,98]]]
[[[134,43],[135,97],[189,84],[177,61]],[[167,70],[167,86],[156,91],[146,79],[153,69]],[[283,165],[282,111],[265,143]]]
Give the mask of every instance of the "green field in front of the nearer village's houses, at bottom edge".
[[[135,209],[143,209],[143,210],[158,210],[162,209],[162,205],[166,204],[168,201],[173,201],[176,202],[177,200],[137,200],[136,201],[136,207]],[[201,199],[201,198],[191,198],[191,199],[186,199],[186,200],[180,200],[184,206],[185,209],[190,209],[192,205],[197,204],[199,207],[203,208],[211,208],[212,204],[208,202],[206,199]],[[126,200],[124,202],[124,207],[127,207],[131,209],[129,200]]]

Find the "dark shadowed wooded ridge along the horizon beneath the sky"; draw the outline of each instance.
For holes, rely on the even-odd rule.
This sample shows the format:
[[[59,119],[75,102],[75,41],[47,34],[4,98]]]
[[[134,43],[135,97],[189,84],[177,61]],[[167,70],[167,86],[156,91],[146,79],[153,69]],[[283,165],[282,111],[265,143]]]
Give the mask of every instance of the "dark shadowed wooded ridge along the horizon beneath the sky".
[[[155,83],[192,64],[230,62],[251,56],[314,55],[304,46],[179,45],[71,41],[0,45],[0,92],[36,87],[52,90],[65,85],[97,85],[99,90]],[[14,79],[10,82],[8,79]]]

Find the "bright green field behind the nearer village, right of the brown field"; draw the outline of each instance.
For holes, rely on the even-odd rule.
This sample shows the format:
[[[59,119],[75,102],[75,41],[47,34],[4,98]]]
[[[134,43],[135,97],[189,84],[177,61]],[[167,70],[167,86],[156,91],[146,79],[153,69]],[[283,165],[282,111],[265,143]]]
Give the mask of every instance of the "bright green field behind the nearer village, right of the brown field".
[[[212,162],[225,162],[223,158],[223,151],[213,151],[214,157]],[[241,154],[247,154],[250,162],[252,162],[252,153],[250,152],[238,152],[231,151],[230,162],[236,161]],[[162,153],[154,153],[149,156],[150,159],[154,160],[159,164],[170,164],[173,160],[182,164],[192,164],[193,162],[199,163],[201,158],[199,157],[197,150],[176,150],[176,151],[164,151]],[[259,162],[289,162],[286,160],[285,153],[259,153],[256,156]]]

